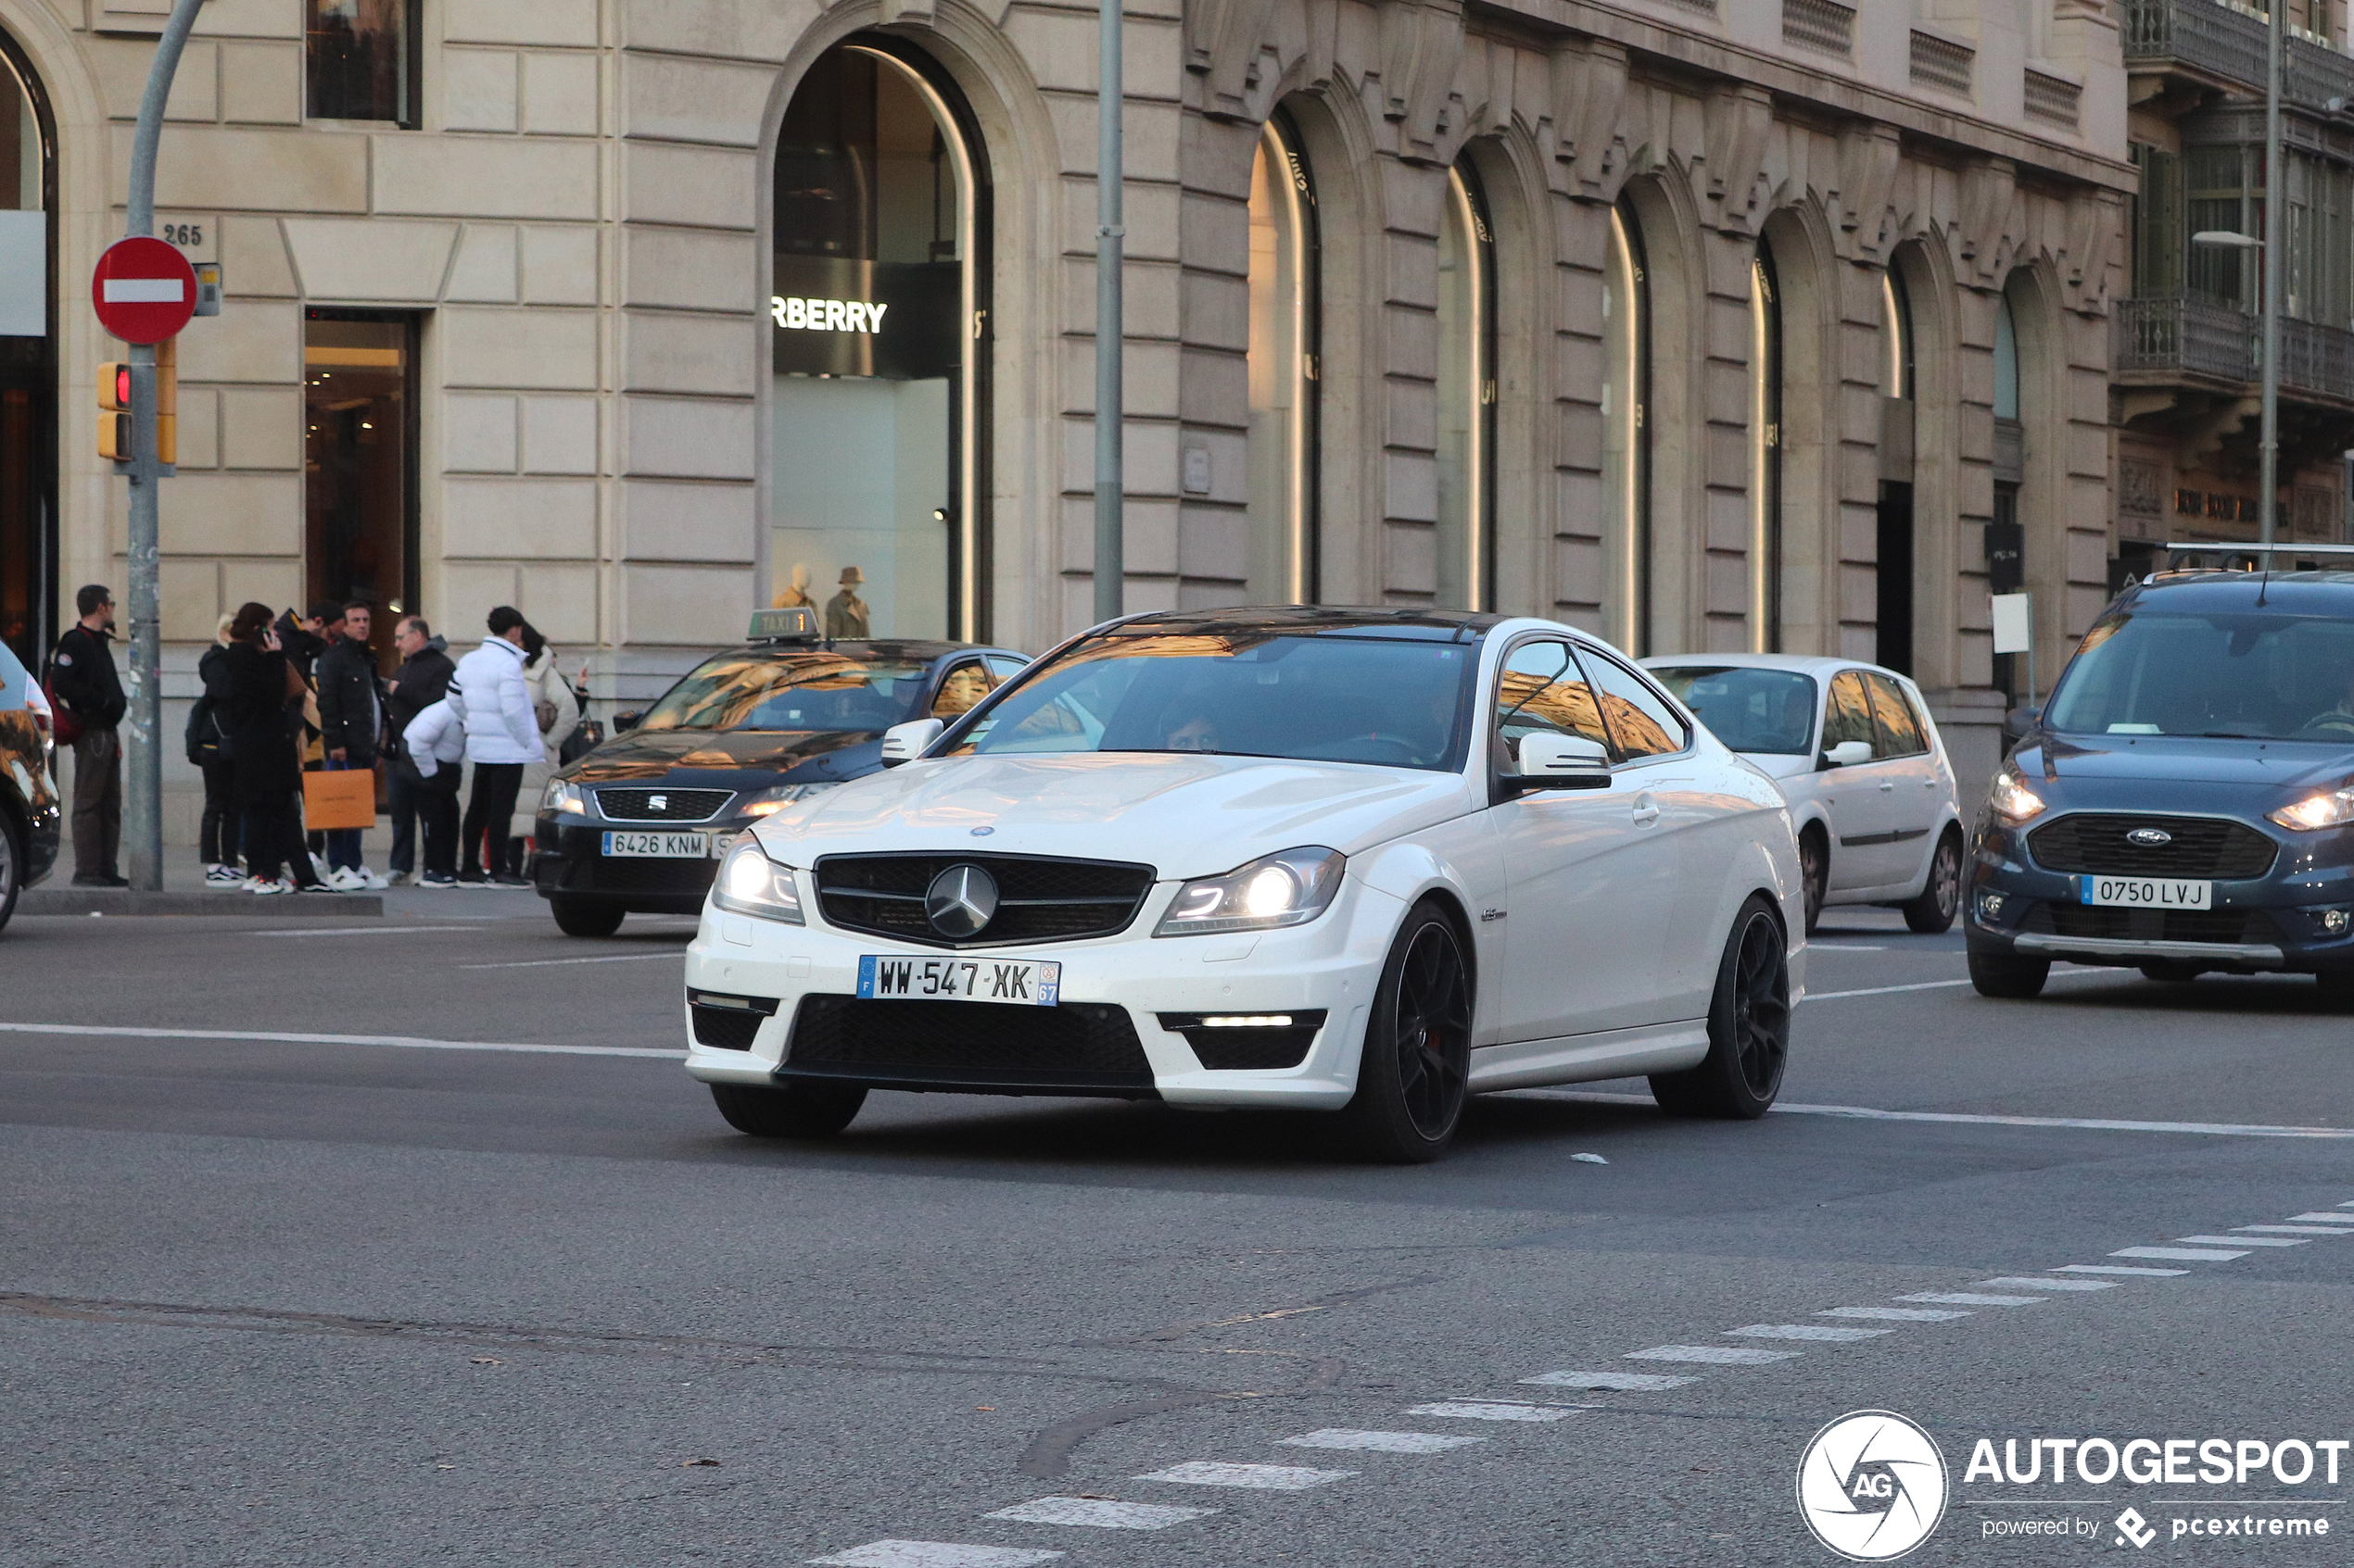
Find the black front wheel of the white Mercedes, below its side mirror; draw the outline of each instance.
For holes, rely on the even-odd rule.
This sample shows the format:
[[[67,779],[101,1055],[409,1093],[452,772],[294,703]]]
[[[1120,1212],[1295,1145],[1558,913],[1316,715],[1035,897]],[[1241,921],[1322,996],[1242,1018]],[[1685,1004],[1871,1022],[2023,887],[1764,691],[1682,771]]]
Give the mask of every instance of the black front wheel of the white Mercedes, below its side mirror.
[[[1455,1140],[1469,1084],[1471,966],[1455,924],[1424,900],[1382,964],[1356,1095],[1342,1117],[1372,1159],[1438,1159]]]

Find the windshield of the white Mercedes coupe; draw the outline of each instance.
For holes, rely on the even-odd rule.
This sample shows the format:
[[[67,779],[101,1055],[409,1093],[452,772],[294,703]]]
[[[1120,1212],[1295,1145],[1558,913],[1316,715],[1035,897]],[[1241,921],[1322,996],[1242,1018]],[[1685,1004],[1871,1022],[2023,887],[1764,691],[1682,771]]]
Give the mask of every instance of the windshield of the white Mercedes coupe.
[[[1459,766],[1476,649],[1379,637],[1095,637],[1033,670],[944,755],[1226,752]]]

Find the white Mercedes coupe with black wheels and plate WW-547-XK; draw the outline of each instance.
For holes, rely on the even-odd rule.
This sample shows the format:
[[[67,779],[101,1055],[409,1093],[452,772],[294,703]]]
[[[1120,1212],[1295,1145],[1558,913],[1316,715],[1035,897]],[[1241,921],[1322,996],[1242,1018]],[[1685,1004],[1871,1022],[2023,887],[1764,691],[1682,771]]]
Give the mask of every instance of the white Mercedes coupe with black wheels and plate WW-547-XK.
[[[1773,1103],[1803,987],[1782,797],[1549,621],[1231,609],[1095,628],[730,846],[687,1072],[756,1135],[869,1088],[1344,1112],[1650,1074]]]

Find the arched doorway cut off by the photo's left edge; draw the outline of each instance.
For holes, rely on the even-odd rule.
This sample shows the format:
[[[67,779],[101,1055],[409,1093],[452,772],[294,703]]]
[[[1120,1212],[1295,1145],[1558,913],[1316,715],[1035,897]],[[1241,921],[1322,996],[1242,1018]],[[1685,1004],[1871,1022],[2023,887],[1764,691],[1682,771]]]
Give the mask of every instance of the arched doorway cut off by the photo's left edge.
[[[0,33],[0,642],[56,639],[56,120]]]

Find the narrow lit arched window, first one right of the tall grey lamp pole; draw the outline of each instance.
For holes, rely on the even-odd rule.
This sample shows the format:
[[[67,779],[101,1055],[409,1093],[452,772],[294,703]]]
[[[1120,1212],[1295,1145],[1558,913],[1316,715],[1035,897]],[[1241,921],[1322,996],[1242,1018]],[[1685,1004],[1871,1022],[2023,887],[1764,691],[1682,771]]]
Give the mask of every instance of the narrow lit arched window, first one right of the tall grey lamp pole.
[[[1316,186],[1290,115],[1250,162],[1250,602],[1316,599]]]

